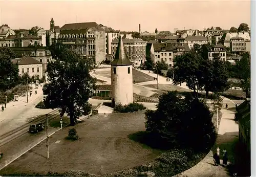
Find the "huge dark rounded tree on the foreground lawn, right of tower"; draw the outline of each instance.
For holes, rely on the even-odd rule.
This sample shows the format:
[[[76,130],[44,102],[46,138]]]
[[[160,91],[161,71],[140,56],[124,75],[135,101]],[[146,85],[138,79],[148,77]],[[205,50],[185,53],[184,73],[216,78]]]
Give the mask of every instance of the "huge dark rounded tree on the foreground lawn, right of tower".
[[[216,138],[206,103],[192,96],[182,99],[177,91],[161,95],[157,110],[147,110],[145,119],[146,131],[161,148],[205,150]]]

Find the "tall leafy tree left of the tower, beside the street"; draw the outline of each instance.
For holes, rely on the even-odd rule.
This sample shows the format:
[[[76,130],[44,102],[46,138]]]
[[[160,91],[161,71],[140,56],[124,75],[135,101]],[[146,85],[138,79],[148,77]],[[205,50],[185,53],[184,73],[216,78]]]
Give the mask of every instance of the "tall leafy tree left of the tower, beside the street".
[[[95,59],[81,57],[65,49],[59,60],[47,65],[49,83],[43,88],[45,104],[51,108],[60,108],[60,116],[67,113],[70,124],[82,114],[90,112],[88,100],[96,89],[96,78],[90,75],[95,67]]]

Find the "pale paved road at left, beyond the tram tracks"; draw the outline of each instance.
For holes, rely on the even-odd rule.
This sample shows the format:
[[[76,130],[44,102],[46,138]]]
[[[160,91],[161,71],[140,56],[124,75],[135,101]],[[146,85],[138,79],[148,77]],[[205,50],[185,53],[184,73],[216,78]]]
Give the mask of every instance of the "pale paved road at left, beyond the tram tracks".
[[[37,94],[35,94],[35,90],[37,91]],[[38,89],[33,88],[32,96],[29,96],[28,103],[27,97],[19,97],[18,101],[7,103],[4,112],[0,112],[0,136],[26,124],[33,116],[51,112],[52,109],[41,110],[34,108],[43,98],[42,87],[39,86]]]

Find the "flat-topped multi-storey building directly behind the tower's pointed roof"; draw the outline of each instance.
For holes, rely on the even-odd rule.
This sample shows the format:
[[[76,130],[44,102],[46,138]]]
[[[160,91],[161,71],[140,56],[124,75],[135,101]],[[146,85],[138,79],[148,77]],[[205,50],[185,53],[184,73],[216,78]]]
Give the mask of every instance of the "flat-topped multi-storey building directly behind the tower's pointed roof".
[[[141,65],[146,59],[146,42],[142,39],[122,39],[127,57],[134,65]],[[118,40],[112,41],[112,54],[115,55]],[[113,58],[114,59],[114,58]]]

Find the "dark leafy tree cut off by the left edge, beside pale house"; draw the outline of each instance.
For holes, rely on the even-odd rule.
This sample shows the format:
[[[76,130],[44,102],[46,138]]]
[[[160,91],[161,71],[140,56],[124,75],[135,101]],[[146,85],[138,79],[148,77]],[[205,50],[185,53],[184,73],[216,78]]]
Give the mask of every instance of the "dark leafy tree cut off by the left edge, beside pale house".
[[[11,62],[14,53],[10,48],[0,48],[0,90],[6,91],[17,85],[18,65]]]

